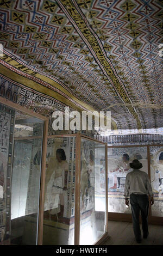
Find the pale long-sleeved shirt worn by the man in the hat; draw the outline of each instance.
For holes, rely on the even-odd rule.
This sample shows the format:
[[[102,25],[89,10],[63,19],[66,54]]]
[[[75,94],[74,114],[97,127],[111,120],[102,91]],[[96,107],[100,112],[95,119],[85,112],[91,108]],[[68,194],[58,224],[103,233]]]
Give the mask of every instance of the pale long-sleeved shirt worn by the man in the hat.
[[[153,197],[152,186],[147,173],[134,169],[126,175],[124,197],[130,196],[131,193],[149,194],[149,196]]]

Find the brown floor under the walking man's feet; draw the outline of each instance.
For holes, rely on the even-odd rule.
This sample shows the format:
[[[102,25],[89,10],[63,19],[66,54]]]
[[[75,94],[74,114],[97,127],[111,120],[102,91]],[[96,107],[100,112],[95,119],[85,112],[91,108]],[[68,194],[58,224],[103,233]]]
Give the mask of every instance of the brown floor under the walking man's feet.
[[[149,225],[149,235],[141,243],[135,240],[133,223],[109,221],[108,226],[110,238],[103,245],[163,245],[163,225]]]

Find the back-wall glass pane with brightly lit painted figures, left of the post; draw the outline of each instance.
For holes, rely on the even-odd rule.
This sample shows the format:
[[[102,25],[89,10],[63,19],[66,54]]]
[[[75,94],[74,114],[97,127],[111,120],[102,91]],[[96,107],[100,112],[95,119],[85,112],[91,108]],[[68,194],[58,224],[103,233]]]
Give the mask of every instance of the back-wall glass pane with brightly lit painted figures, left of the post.
[[[124,204],[124,186],[127,173],[133,169],[129,163],[138,159],[148,173],[147,148],[108,148],[108,211],[130,214],[131,209]]]

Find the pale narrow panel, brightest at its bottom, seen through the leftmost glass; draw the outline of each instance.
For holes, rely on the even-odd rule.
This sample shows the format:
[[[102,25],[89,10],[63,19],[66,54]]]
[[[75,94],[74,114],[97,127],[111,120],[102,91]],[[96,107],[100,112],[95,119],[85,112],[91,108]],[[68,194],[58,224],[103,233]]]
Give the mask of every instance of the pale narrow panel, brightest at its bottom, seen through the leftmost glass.
[[[25,215],[32,141],[15,141],[12,164],[11,220]]]

